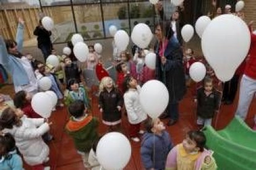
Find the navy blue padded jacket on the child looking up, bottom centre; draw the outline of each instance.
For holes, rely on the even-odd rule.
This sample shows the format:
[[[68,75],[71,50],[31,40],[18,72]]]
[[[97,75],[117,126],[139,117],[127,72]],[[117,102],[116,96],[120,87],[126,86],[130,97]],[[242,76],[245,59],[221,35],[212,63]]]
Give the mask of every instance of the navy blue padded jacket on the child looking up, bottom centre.
[[[140,156],[142,157],[144,168],[164,169],[166,158],[171,148],[173,148],[173,144],[167,131],[163,131],[161,136],[145,133],[142,147],[140,148]]]

